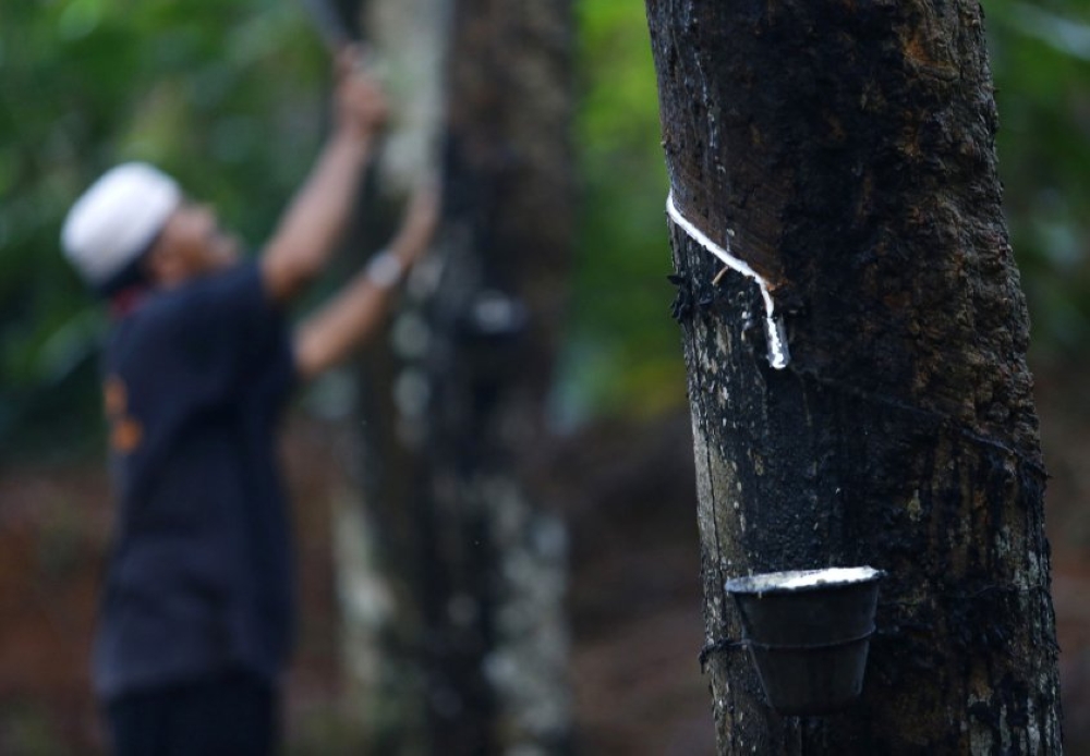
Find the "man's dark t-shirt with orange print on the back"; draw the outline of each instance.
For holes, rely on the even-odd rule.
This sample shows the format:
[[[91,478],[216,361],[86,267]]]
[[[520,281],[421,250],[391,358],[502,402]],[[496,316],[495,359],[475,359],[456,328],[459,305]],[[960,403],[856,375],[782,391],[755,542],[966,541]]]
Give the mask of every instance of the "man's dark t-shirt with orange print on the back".
[[[119,512],[96,690],[272,680],[292,631],[276,425],[294,365],[257,267],[150,296],[117,325],[105,370]]]

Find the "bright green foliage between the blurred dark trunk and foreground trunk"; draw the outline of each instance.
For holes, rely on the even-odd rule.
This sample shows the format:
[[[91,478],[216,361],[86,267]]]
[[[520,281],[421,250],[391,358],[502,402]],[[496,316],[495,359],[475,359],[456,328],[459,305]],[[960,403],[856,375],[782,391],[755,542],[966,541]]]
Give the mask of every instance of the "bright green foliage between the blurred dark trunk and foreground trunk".
[[[666,231],[667,179],[642,3],[582,0],[576,123],[580,173],[568,411],[645,415],[685,401]]]

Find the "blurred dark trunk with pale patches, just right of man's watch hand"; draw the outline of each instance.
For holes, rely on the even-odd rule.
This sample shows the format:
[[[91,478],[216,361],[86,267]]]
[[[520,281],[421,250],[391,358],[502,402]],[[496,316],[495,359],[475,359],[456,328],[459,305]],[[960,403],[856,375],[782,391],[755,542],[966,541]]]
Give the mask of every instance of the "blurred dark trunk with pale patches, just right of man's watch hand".
[[[448,644],[436,682],[461,706],[432,721],[443,753],[559,753],[566,536],[523,473],[547,432],[571,241],[570,7],[457,0],[451,40],[425,601]]]

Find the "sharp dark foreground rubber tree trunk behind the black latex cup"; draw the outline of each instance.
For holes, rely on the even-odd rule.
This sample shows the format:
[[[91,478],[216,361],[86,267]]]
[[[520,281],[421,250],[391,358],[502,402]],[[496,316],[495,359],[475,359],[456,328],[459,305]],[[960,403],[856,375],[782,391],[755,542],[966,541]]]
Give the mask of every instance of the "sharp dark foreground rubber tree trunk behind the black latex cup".
[[[1056,754],[1028,321],[977,2],[647,0],[719,754]],[[724,581],[887,571],[861,698],[767,705]]]

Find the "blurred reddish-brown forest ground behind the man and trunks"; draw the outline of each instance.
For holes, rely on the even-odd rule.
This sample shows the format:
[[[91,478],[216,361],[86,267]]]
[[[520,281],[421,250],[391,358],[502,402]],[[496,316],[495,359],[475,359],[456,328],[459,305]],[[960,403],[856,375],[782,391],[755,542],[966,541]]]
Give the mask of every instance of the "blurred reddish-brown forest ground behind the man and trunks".
[[[1038,369],[1062,647],[1066,753],[1090,755],[1090,369]],[[338,673],[328,502],[338,434],[295,418],[286,439],[300,551],[301,637],[290,754],[359,753]],[[581,754],[714,753],[697,661],[695,490],[685,415],[601,425],[549,456],[571,532],[572,692]],[[102,753],[86,673],[108,540],[96,464],[0,468],[0,756]]]

